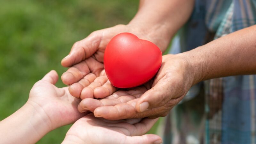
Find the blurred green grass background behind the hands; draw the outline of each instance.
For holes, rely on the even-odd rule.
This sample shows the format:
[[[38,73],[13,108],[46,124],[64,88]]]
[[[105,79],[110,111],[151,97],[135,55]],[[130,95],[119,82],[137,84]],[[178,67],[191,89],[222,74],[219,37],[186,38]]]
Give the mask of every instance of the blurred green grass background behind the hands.
[[[33,84],[92,31],[127,24],[138,0],[1,0],[0,120],[19,109]],[[63,87],[61,81],[58,87]],[[38,143],[61,143],[71,125],[48,133]],[[157,124],[149,133],[156,132]]]

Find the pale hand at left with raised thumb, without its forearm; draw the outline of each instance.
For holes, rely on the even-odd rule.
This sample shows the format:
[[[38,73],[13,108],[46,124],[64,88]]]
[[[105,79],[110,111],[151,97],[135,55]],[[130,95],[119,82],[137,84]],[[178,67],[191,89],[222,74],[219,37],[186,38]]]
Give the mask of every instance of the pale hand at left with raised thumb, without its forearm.
[[[52,70],[36,84],[29,93],[26,104],[33,106],[42,114],[51,130],[75,122],[84,116],[77,110],[80,99],[72,97],[68,87],[57,88],[58,74]]]

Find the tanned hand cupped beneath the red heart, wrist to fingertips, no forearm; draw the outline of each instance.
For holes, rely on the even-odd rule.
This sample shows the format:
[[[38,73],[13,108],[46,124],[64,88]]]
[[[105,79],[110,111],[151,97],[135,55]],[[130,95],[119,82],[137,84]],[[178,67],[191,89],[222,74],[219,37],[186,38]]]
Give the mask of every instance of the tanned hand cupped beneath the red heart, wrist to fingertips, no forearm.
[[[165,55],[154,80],[139,87],[119,90],[104,99],[86,98],[78,110],[90,110],[96,117],[111,120],[166,116],[186,95],[193,85],[193,78],[192,68],[185,58]]]

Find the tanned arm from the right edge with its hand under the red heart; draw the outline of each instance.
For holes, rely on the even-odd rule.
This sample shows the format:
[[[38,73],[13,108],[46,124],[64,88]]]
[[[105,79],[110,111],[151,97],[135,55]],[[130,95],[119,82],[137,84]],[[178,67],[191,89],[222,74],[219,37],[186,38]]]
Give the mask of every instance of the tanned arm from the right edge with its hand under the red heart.
[[[152,82],[117,91],[104,99],[86,98],[80,102],[78,110],[89,110],[96,117],[111,120],[166,116],[189,88],[200,81],[256,74],[255,43],[256,25],[188,52],[165,55]]]

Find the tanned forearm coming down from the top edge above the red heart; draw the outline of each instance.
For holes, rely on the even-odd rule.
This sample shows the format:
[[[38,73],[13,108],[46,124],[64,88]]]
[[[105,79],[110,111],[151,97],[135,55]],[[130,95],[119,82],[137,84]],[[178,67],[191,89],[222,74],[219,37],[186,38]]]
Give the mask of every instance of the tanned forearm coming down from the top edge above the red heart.
[[[175,33],[188,20],[194,0],[140,0],[129,25],[138,27],[164,52]]]

